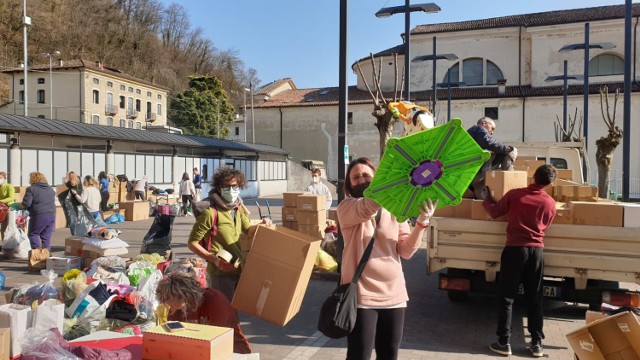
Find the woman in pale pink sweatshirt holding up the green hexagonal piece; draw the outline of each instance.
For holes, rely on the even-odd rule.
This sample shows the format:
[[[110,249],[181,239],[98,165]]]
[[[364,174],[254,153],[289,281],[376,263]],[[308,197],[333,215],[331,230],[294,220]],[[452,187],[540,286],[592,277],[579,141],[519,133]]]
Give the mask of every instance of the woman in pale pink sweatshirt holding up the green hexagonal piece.
[[[338,205],[338,222],[344,238],[343,284],[353,278],[376,229],[376,214],[382,211],[373,251],[358,281],[358,314],[356,326],[347,338],[348,360],[369,359],[374,347],[377,359],[398,358],[409,300],[400,258],[409,259],[418,250],[437,206],[437,201],[423,203],[413,230],[407,222],[398,223],[375,201],[363,197],[374,172],[371,160],[353,160],[347,168],[345,199]]]

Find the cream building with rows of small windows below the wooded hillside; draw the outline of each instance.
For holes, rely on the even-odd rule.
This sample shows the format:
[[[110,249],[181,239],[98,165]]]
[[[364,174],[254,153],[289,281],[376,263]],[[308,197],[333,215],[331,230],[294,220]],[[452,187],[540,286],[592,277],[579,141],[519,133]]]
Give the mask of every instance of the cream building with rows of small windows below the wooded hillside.
[[[8,75],[10,99],[0,113],[24,115],[24,71]],[[59,60],[29,68],[29,116],[87,124],[145,129],[167,124],[168,89],[122,73],[100,62]]]

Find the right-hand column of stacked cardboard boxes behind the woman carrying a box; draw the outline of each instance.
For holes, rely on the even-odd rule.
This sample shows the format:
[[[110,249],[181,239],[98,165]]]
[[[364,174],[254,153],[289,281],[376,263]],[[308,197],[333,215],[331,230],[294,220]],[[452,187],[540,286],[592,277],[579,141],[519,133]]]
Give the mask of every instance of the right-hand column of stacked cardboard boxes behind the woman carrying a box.
[[[298,231],[318,239],[324,238],[324,229],[327,226],[327,197],[304,194],[299,195],[296,202]]]

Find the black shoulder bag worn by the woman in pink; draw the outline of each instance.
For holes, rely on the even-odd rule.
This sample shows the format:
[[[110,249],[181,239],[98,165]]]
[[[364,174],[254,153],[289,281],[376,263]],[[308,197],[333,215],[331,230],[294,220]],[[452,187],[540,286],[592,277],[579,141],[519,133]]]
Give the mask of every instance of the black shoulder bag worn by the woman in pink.
[[[362,271],[364,271],[364,267],[367,265],[367,261],[373,250],[373,243],[376,240],[376,233],[378,231],[377,224],[380,222],[381,213],[382,209],[380,209],[378,215],[376,215],[376,230],[364,254],[362,254],[356,272],[353,274],[353,279],[347,284],[340,285],[340,283],[338,283],[338,287],[333,290],[320,308],[318,330],[327,337],[332,339],[345,337],[353,331],[356,325],[358,280],[360,280],[360,275],[362,275]]]

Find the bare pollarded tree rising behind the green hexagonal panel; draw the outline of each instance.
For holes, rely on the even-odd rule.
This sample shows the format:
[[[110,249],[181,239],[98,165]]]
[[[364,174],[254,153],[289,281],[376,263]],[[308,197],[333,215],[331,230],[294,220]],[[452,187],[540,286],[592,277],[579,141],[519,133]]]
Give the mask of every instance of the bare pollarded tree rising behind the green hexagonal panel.
[[[402,99],[402,90],[400,90],[400,93],[398,93],[398,89],[402,89],[404,87],[403,85],[404,85],[405,79],[403,74],[401,82],[398,83],[398,54],[393,54],[393,63],[394,63],[394,71],[395,71],[393,98],[392,99],[385,98],[384,93],[382,91],[382,86],[381,86],[383,56],[379,58],[378,63],[376,63],[372,53],[370,53],[369,56],[371,60],[371,69],[372,69],[372,75],[373,75],[372,79],[374,83],[373,84],[374,89],[371,89],[371,86],[367,82],[366,77],[363,76],[360,63],[357,62],[356,66],[358,67],[358,73],[360,74],[360,78],[364,82],[364,85],[366,86],[367,91],[369,91],[369,94],[373,99],[373,112],[371,113],[371,115],[373,115],[373,117],[376,118],[376,122],[374,125],[378,129],[378,134],[380,139],[379,150],[380,150],[380,157],[382,157],[385,146],[387,145],[387,140],[391,138],[391,135],[393,134],[393,127],[398,122],[398,119],[394,118],[391,114],[391,111],[389,110],[389,103],[397,102],[397,101],[400,101],[400,99]]]

